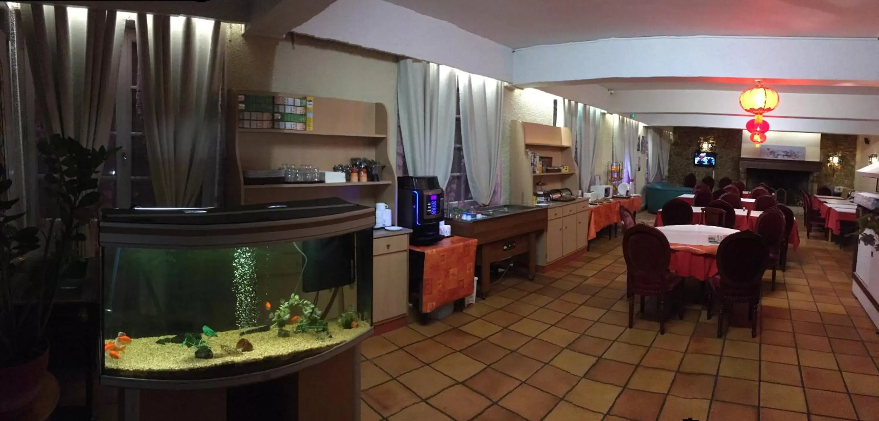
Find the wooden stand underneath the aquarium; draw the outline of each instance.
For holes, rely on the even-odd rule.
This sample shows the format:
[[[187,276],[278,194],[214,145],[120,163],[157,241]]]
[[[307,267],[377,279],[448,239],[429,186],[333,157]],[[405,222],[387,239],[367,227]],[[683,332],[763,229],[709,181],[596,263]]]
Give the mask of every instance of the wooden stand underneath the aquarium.
[[[168,421],[188,414],[210,421],[360,421],[360,342],[371,334],[282,367],[294,370],[289,374],[257,374],[258,380],[237,386],[218,380],[215,388],[204,382],[198,388],[120,388],[119,419]]]

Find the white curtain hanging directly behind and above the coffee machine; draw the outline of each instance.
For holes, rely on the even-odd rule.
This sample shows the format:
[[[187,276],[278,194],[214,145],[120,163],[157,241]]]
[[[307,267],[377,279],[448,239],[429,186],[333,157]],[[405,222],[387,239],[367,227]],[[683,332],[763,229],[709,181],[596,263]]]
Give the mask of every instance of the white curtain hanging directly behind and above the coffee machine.
[[[406,59],[400,62],[396,102],[406,166],[413,176],[436,176],[446,187],[454,157],[454,69]]]

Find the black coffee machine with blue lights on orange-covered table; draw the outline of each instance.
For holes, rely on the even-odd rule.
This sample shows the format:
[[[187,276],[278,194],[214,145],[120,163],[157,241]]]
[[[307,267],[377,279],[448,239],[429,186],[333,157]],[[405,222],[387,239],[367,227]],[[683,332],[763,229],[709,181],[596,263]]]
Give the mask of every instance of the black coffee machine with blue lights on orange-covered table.
[[[443,192],[435,177],[397,177],[397,221],[412,230],[412,245],[432,245],[443,239]]]

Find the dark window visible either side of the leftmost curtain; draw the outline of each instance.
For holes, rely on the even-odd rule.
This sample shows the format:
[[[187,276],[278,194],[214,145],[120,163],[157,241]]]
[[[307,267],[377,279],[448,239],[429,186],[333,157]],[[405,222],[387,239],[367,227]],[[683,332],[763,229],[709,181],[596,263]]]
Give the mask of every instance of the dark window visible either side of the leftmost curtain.
[[[120,147],[115,155],[104,163],[98,191],[101,192],[101,207],[155,207],[152,179],[149,177],[149,155],[147,142],[143,135],[142,95],[140,76],[137,67],[137,42],[134,21],[128,20],[120,55],[119,82],[116,89],[116,107],[113,123],[107,139],[107,148]],[[29,92],[33,95],[33,92]],[[46,138],[39,113],[34,117],[34,156],[35,142]],[[54,198],[49,197],[43,188],[46,164],[37,159],[39,206],[37,218],[58,217]]]

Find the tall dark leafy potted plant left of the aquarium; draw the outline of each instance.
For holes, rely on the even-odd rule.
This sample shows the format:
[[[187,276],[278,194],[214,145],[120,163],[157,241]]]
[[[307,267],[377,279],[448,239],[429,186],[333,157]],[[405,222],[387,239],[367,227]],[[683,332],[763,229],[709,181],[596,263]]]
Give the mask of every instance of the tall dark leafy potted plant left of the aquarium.
[[[39,393],[55,290],[59,279],[81,271],[82,259],[72,250],[85,241],[81,231],[97,212],[99,169],[118,150],[85,148],[60,135],[40,141],[37,148],[48,166],[46,189],[60,218],[44,232],[18,228],[24,214],[8,214],[18,199],[0,200],[0,413],[22,408]],[[11,185],[0,165],[0,197]],[[25,260],[36,261],[33,270],[22,270]]]

